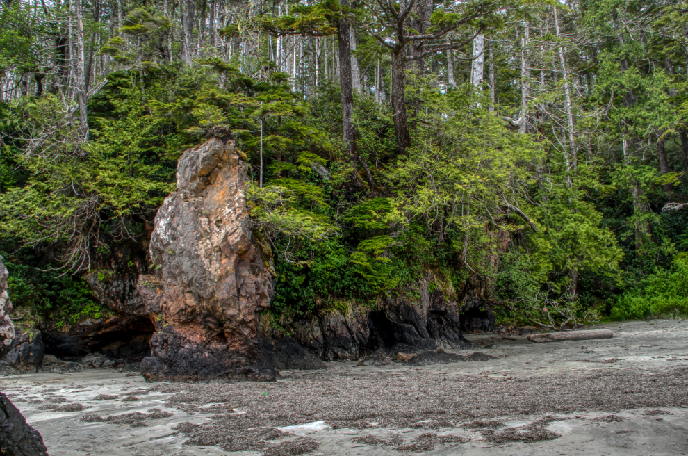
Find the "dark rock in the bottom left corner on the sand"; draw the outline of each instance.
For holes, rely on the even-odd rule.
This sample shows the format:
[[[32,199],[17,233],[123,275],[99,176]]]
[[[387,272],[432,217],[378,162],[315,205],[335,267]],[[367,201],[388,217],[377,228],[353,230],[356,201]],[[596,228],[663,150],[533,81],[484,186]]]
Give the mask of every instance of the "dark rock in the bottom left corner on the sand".
[[[37,430],[26,424],[24,416],[0,393],[0,455],[47,456],[47,448]]]

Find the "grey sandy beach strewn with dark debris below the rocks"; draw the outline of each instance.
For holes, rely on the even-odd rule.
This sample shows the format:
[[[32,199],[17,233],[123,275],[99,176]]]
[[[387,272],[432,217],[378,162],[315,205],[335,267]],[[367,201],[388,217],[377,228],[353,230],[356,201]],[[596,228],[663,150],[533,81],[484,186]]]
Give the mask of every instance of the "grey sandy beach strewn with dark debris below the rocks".
[[[0,377],[0,391],[51,456],[688,454],[688,321],[597,328],[614,338],[467,335],[497,345],[475,350],[489,361],[327,363],[271,384],[93,369]]]

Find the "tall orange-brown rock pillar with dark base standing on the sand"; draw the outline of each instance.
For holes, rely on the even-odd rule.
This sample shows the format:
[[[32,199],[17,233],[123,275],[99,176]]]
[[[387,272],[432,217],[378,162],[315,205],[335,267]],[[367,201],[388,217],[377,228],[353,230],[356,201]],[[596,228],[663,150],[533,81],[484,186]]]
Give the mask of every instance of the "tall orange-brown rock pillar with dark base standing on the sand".
[[[179,159],[151,236],[154,275],[138,281],[156,325],[141,363],[149,382],[275,380],[259,328],[274,271],[252,238],[246,171],[220,129]]]

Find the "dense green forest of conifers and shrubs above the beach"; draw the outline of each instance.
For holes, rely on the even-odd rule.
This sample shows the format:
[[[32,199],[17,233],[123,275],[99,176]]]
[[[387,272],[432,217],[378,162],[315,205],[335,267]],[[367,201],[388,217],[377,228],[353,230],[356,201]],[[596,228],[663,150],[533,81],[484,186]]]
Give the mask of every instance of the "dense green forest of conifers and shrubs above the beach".
[[[2,0],[15,315],[111,312],[85,277],[145,272],[215,127],[275,262],[265,324],[420,282],[504,324],[688,313],[686,0]]]

